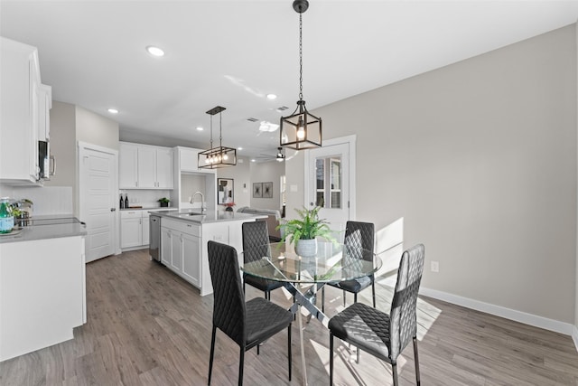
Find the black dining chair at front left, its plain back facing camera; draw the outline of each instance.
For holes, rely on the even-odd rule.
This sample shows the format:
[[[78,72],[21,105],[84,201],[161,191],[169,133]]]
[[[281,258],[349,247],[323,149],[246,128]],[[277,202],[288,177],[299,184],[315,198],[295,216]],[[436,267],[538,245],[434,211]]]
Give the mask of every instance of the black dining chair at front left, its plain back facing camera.
[[[209,379],[213,369],[217,329],[227,334],[240,348],[238,384],[243,384],[245,352],[287,328],[287,358],[291,381],[291,311],[263,297],[245,302],[238,268],[237,250],[226,244],[208,241],[210,281],[213,285],[213,328],[210,339]]]

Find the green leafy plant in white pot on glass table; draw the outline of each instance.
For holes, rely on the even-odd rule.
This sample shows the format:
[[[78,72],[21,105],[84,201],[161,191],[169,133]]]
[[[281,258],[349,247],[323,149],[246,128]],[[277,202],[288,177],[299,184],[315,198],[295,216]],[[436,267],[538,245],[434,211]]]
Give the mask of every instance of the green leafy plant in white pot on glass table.
[[[299,213],[298,219],[283,221],[276,229],[283,229],[281,241],[291,237],[290,242],[295,245],[295,252],[301,256],[313,256],[317,253],[317,236],[326,240],[337,242],[331,234],[329,223],[319,218],[322,208],[316,206],[311,210],[303,207],[303,210],[295,209]]]

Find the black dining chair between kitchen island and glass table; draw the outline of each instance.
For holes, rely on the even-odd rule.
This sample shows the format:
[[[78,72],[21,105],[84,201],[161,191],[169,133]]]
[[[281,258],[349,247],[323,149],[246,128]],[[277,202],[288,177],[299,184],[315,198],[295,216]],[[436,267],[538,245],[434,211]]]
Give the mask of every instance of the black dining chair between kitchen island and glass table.
[[[265,221],[249,221],[242,224],[243,234],[243,261],[248,263],[262,259],[263,257],[271,257],[271,249],[269,248],[269,232],[267,231],[267,224]],[[275,280],[267,280],[265,278],[256,278],[243,273],[243,292],[245,292],[245,284],[256,287],[265,292],[265,298],[271,300],[271,291],[283,287],[283,283]]]

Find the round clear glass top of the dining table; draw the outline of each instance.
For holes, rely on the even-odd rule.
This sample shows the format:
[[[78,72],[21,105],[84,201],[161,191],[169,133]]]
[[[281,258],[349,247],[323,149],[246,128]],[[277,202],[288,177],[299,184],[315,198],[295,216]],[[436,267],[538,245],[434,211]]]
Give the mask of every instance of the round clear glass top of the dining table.
[[[339,282],[381,268],[381,259],[367,249],[324,241],[318,241],[314,256],[300,256],[286,242],[261,245],[243,254],[251,260],[242,267],[247,275],[290,283]]]

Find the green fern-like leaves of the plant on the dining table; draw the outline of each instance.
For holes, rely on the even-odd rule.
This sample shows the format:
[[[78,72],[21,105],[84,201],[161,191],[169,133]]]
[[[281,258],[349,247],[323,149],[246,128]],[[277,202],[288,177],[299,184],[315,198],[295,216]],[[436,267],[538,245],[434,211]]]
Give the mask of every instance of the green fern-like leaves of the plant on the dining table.
[[[316,206],[312,210],[308,210],[305,207],[303,207],[303,210],[295,209],[295,212],[299,213],[299,218],[283,221],[276,228],[284,231],[281,241],[283,242],[288,236],[291,236],[291,242],[296,245],[298,240],[312,240],[320,236],[332,242],[337,242],[331,234],[329,222],[319,218],[321,209],[320,206]]]

